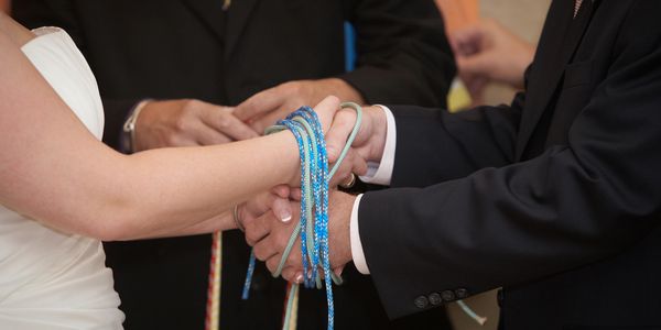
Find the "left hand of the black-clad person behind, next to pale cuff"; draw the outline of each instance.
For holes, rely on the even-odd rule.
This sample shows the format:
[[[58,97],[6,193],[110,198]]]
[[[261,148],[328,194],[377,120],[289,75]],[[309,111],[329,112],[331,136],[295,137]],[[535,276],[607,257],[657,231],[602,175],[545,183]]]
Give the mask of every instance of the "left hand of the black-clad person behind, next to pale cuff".
[[[220,144],[259,136],[232,108],[198,100],[150,101],[136,122],[136,151]]]

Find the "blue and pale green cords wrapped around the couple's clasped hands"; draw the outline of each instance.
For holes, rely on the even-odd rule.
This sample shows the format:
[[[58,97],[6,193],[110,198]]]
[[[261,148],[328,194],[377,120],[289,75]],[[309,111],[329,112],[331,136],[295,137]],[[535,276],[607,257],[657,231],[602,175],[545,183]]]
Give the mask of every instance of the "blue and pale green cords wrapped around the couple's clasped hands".
[[[299,226],[290,237],[288,245],[282,254],[278,270],[273,273],[274,277],[280,276],[282,268],[289,256],[296,238],[301,235],[302,264],[305,287],[322,287],[322,275],[318,268],[324,272],[324,278],[332,278],[336,284],[342,284],[342,278],[330,271],[329,249],[328,249],[328,183],[337,168],[344,161],[351,143],[358,134],[360,122],[362,120],[362,109],[353,102],[340,105],[342,108],[350,108],[356,111],[357,119],[354,130],[347,143],[343,148],[334,167],[328,172],[328,156],[326,153],[326,141],[317,114],[310,107],[302,107],[285,120],[279,121],[277,125],[267,129],[267,134],[290,130],[296,143],[299,144],[299,155],[301,158],[301,219]],[[251,254],[250,265],[243,287],[243,299],[248,298],[251,270],[254,268],[254,260]],[[310,276],[307,276],[310,274]],[[333,304],[333,286],[330,280],[325,280],[326,300],[328,305],[328,329],[334,328],[335,307]],[[285,321],[283,327],[289,328],[291,320],[293,299],[299,290],[299,285],[292,285],[289,295],[288,307],[285,311]],[[285,328],[286,329],[286,328]]]

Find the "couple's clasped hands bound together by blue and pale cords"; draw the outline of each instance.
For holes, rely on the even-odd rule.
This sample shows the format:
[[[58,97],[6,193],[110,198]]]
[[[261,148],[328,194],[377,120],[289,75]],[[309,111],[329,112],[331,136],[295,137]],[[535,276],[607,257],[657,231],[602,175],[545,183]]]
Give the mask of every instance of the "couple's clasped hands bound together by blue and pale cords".
[[[328,97],[315,108],[325,131],[328,162],[333,165],[354,129],[356,112],[339,110],[339,100]],[[349,220],[356,197],[337,190],[351,173],[365,175],[368,162],[380,162],[386,143],[386,114],[378,107],[365,107],[362,123],[347,156],[329,183],[328,246],[330,265],[339,275],[351,261]],[[300,177],[300,176],[299,176]],[[296,179],[289,185],[274,187],[239,208],[239,227],[245,230],[246,241],[253,246],[257,258],[266,262],[273,273],[281,262],[283,251],[301,211],[301,190]],[[282,277],[290,282],[303,280],[301,239],[293,245],[282,270]]]

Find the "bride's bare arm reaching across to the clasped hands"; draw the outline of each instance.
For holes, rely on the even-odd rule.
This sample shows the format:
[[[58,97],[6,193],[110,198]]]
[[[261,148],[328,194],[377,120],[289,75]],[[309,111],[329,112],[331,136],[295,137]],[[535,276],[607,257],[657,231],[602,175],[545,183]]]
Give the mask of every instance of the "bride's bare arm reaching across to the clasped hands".
[[[131,240],[235,228],[232,206],[299,182],[297,147],[289,132],[130,156],[112,151],[20,51],[34,35],[4,14],[0,29],[2,206],[65,232]],[[338,103],[327,97],[317,105],[325,130]],[[351,169],[346,168],[340,177]],[[250,213],[243,208],[242,215]]]

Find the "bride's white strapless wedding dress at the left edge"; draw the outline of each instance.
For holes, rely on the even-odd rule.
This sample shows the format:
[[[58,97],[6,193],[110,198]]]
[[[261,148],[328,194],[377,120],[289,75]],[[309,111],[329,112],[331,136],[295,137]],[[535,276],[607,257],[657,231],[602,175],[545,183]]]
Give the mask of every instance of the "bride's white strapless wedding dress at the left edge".
[[[37,37],[23,53],[100,140],[104,109],[85,58],[63,30],[33,32]],[[105,260],[98,240],[0,206],[0,329],[121,329],[124,316]]]

